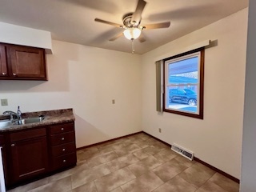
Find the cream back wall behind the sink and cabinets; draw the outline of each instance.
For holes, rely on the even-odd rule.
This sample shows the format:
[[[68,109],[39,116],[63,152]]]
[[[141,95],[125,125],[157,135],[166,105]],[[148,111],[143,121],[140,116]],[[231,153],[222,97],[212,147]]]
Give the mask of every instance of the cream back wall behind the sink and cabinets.
[[[140,56],[53,41],[49,81],[0,81],[4,110],[73,108],[77,147],[141,131]],[[115,104],[112,104],[115,99]]]

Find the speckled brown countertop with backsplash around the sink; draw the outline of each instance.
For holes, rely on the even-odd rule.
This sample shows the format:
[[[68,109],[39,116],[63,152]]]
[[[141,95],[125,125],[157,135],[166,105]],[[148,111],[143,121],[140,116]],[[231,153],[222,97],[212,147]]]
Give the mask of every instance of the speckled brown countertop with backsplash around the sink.
[[[34,123],[25,124],[25,125],[7,126],[5,128],[1,128],[0,132],[23,130],[23,129],[34,128],[37,126],[49,126],[49,125],[58,124],[58,123],[73,122],[75,120],[72,109],[45,110],[45,111],[38,111],[38,112],[23,113],[22,118],[35,118],[35,117],[39,117],[40,115],[45,116],[42,122],[34,122]],[[6,118],[6,115],[0,115],[0,119],[4,119],[4,118]]]

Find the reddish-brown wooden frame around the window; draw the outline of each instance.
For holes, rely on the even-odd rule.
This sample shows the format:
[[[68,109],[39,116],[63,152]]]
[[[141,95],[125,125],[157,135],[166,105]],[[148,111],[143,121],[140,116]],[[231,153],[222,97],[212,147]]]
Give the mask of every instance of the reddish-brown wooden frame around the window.
[[[170,108],[166,108],[166,62],[173,60],[173,59],[178,59],[178,58],[182,58],[184,56],[188,56],[190,54],[195,54],[199,52],[200,53],[200,63],[198,65],[198,75],[200,75],[199,77],[199,82],[198,82],[198,96],[199,96],[199,102],[197,104],[198,106],[198,114],[196,113],[190,113],[188,111],[181,111],[181,110],[171,110]],[[205,49],[204,47],[202,48],[198,48],[195,50],[190,50],[187,51],[185,53],[182,54],[177,54],[174,55],[170,58],[165,58],[163,59],[163,94],[162,94],[162,110],[164,112],[168,112],[168,113],[172,113],[172,114],[180,114],[180,115],[184,115],[184,116],[188,116],[191,118],[200,118],[203,119],[203,103],[204,103],[204,98],[203,98],[203,91],[204,91],[204,60],[205,60]]]

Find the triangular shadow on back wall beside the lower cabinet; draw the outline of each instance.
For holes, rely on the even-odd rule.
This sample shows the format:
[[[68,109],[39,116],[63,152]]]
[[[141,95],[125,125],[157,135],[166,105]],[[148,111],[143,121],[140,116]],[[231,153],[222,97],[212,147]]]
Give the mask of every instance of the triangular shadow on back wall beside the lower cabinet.
[[[86,122],[85,119],[77,114],[74,114],[74,117],[77,148],[111,139],[109,135],[104,134],[101,130],[98,130],[97,127],[90,124],[90,122]]]

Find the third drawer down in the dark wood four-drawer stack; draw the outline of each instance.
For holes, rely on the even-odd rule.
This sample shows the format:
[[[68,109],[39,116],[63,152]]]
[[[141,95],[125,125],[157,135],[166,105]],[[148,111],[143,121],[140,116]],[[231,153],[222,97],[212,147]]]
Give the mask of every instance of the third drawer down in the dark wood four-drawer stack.
[[[64,154],[74,153],[76,151],[74,142],[69,142],[60,146],[53,146],[51,148],[52,157],[56,158]]]

